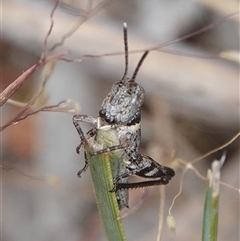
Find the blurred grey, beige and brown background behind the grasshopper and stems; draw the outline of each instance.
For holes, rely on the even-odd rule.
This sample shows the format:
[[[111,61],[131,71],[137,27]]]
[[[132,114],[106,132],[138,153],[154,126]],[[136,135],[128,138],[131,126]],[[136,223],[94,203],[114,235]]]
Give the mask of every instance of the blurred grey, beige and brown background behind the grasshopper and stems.
[[[1,91],[41,56],[55,1],[2,2]],[[90,1],[62,1],[54,14],[48,49],[79,21]],[[93,6],[101,1],[93,1]],[[44,105],[72,99],[81,113],[97,116],[103,98],[124,72],[122,23],[128,24],[129,50],[144,50],[174,40],[217,22],[239,10],[235,0],[105,1],[99,11],[68,38],[56,53],[121,54],[58,61],[46,85]],[[146,91],[142,109],[139,152],[175,168],[166,186],[164,218],[180,185],[186,162],[226,143],[239,132],[239,65],[216,58],[222,51],[239,51],[239,14],[200,35],[151,51],[137,82]],[[130,54],[131,77],[142,53]],[[12,99],[27,103],[43,80],[43,68],[34,73]],[[1,107],[1,126],[21,110],[10,103]],[[84,131],[91,125],[82,124]],[[78,134],[69,113],[40,112],[1,132],[1,212],[4,241],[106,240],[97,211],[90,173],[78,179],[83,151],[76,154]],[[239,140],[227,148],[223,182],[239,188]],[[222,151],[198,162],[206,176]],[[134,181],[136,179],[132,179]],[[239,240],[239,194],[221,186],[219,241]],[[205,182],[189,170],[172,215],[176,233],[163,225],[162,240],[200,240]],[[130,191],[130,208],[142,190]],[[156,240],[161,197],[150,188],[142,206],[123,220],[128,240]],[[128,210],[123,210],[123,213]]]

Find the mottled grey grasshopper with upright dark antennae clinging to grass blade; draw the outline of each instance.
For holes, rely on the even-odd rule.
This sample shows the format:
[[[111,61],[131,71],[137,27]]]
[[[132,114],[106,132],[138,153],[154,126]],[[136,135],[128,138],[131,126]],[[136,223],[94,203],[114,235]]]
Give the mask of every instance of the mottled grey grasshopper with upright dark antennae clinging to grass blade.
[[[91,155],[109,153],[114,186],[110,192],[115,192],[119,209],[128,207],[128,189],[165,185],[175,175],[174,170],[162,166],[151,157],[137,153],[141,141],[141,107],[145,91],[135,82],[137,73],[148,54],[141,57],[131,79],[127,78],[128,44],[127,25],[124,23],[125,71],[121,80],[115,82],[107,97],[103,100],[99,116],[94,118],[86,115],[75,115],[73,124],[80,136],[80,145],[86,143],[91,147]],[[95,125],[84,135],[80,122]],[[113,144],[114,143],[114,144]],[[88,167],[85,153],[85,166],[78,172],[81,176]],[[152,180],[128,183],[130,176],[137,175]]]

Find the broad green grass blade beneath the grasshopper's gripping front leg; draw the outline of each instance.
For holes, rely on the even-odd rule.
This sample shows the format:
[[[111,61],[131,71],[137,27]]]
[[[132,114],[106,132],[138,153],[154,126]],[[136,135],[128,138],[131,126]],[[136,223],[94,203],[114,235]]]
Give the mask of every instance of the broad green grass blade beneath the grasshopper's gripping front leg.
[[[91,156],[88,149],[86,152],[94,193],[107,238],[109,241],[126,240],[122,221],[117,220],[120,211],[116,195],[109,192],[113,188],[109,154]]]

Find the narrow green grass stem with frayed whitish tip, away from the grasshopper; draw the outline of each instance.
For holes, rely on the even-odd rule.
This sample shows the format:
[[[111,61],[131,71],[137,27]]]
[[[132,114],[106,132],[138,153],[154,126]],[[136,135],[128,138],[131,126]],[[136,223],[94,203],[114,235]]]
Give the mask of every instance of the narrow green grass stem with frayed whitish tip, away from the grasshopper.
[[[214,161],[208,172],[204,204],[202,241],[217,241],[220,163]]]

